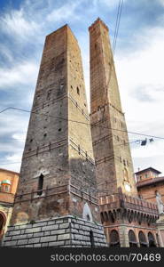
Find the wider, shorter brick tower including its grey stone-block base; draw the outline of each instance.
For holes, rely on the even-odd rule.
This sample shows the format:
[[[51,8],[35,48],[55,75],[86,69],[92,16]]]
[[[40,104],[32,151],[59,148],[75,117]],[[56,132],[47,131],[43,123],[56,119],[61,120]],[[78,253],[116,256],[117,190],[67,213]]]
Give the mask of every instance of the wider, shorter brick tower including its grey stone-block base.
[[[81,52],[46,36],[6,247],[104,247]],[[91,193],[92,192],[92,193]]]

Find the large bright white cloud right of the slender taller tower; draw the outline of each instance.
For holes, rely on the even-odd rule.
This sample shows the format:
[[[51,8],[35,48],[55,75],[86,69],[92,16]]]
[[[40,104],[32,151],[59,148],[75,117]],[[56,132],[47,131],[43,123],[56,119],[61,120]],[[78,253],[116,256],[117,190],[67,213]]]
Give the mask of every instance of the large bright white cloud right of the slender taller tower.
[[[164,137],[164,31],[163,28],[143,29],[136,38],[137,50],[117,54],[116,69],[120,85],[123,111],[131,132]],[[131,135],[131,138],[144,136]],[[150,146],[132,146],[134,166],[159,167],[164,157],[164,142],[154,140]]]

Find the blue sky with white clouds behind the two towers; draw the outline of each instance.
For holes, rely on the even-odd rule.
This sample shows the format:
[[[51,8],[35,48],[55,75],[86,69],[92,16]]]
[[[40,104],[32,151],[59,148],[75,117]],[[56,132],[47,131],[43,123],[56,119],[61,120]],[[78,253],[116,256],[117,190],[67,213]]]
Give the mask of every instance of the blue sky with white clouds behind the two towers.
[[[100,17],[111,43],[119,0],[1,0],[0,110],[31,109],[44,37],[68,23],[82,49],[90,99],[89,32]],[[141,146],[129,134],[134,169],[152,166],[164,174],[164,0],[124,0],[114,53],[122,108],[129,132],[162,137]],[[0,168],[20,171],[29,114],[0,113]]]

